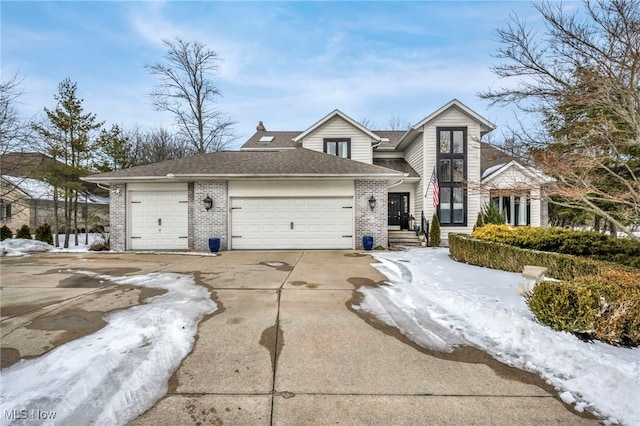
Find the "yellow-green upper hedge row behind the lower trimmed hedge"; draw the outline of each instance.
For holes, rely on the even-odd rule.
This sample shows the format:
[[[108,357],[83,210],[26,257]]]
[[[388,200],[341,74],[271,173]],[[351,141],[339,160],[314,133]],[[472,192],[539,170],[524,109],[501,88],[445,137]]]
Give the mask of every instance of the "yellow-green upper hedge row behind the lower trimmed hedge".
[[[492,224],[475,229],[471,235],[525,249],[585,256],[640,268],[640,242],[630,238],[614,238],[594,231]]]

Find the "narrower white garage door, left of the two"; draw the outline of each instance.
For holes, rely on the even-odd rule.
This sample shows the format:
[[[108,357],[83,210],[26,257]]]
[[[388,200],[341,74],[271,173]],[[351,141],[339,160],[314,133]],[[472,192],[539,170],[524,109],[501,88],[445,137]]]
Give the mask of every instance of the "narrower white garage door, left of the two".
[[[188,248],[186,191],[131,192],[131,249]]]

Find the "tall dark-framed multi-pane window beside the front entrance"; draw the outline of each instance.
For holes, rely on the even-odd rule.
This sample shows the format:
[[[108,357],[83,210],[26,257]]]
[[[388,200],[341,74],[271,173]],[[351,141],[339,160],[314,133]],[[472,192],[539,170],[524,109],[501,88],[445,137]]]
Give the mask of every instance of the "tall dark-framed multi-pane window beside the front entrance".
[[[438,127],[438,183],[440,224],[467,224],[467,128]]]

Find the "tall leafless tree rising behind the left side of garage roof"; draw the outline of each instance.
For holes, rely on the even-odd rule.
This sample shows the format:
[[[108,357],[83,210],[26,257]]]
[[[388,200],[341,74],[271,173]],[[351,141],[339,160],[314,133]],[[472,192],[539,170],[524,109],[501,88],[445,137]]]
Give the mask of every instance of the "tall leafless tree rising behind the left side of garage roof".
[[[151,93],[159,111],[174,114],[180,133],[199,154],[225,149],[234,139],[235,121],[216,108],[215,81],[220,58],[197,41],[163,40],[165,63],[146,65],[161,83]]]

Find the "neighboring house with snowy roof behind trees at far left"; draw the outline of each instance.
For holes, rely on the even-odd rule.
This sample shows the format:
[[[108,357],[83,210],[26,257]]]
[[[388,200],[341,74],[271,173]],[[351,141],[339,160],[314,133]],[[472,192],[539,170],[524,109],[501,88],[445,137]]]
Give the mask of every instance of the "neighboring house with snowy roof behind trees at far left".
[[[44,223],[55,224],[53,187],[40,179],[33,179],[43,167],[54,160],[39,153],[8,153],[0,157],[0,226],[7,225],[14,233],[23,225],[32,232]],[[62,197],[58,218],[64,225]],[[85,192],[78,197],[78,227],[90,229],[106,224],[109,218],[109,197]]]

